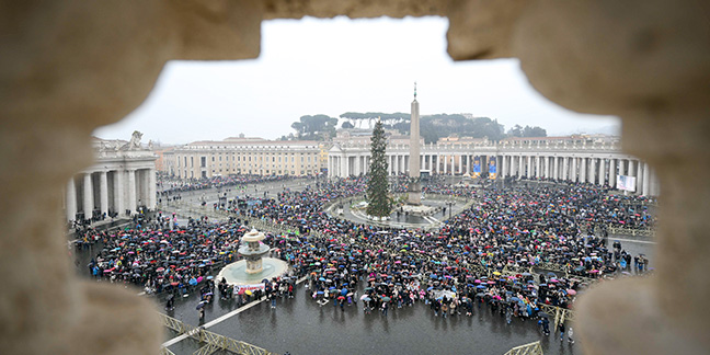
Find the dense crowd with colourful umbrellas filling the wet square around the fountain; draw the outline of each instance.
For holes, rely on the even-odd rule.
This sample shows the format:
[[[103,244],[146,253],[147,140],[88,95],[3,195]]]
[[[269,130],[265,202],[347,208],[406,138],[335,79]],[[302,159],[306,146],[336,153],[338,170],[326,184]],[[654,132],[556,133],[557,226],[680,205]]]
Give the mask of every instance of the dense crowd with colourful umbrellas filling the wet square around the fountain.
[[[249,179],[217,184],[263,182]],[[171,193],[209,184],[215,185],[174,186]],[[294,297],[296,279],[305,278],[309,297],[320,306],[344,310],[362,304],[363,312],[375,310],[385,317],[390,310],[417,304],[444,318],[489,311],[508,323],[515,318],[540,319],[543,333],[549,333],[549,321],[540,305],[572,308],[577,293],[592,279],[649,270],[643,255],[634,257],[632,267],[631,255],[620,243],[608,248],[605,238],[582,232],[584,225],[614,220],[635,228],[652,225],[646,210],[631,214],[639,205],[629,203],[631,197],[611,195],[599,186],[431,184],[427,193],[474,201],[434,231],[376,227],[324,211],[328,203],[365,191],[364,178],[319,182],[300,192],[284,188],[275,197],[247,195],[259,203],[230,205],[231,222],[215,224],[202,217],[173,229],[172,216],[158,214],[118,232],[90,229],[80,241],[101,242],[102,249],[89,263],[92,277],[174,295],[168,298],[167,308],[175,297],[199,290],[197,309],[203,312],[215,288],[221,298],[239,304],[265,296],[275,308],[276,299]],[[263,293],[241,293],[225,280],[215,284],[215,271],[239,260],[239,240],[254,219],[291,230],[266,231],[263,241],[273,256],[289,263],[289,274],[264,280]],[[553,272],[549,265],[556,266]]]

